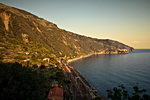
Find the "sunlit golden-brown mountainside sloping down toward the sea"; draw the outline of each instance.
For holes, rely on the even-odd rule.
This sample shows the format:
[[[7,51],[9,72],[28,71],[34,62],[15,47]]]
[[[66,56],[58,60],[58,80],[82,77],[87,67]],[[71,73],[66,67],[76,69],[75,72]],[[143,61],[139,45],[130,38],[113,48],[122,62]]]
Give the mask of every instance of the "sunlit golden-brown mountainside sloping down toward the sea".
[[[26,52],[38,58],[73,57],[108,48],[133,48],[117,41],[105,42],[60,29],[56,24],[29,12],[0,4],[1,58],[27,59]],[[114,43],[112,43],[114,42]],[[112,45],[115,44],[115,45]]]

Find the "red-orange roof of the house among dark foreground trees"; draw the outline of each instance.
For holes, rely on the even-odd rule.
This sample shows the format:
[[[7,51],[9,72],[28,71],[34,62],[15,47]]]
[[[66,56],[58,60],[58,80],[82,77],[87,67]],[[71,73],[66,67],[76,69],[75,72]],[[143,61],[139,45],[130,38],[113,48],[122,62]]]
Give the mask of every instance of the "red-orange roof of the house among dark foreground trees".
[[[48,98],[53,96],[53,95],[57,95],[57,96],[63,97],[63,89],[59,88],[59,87],[55,87],[53,89],[50,89],[49,94],[48,94]]]

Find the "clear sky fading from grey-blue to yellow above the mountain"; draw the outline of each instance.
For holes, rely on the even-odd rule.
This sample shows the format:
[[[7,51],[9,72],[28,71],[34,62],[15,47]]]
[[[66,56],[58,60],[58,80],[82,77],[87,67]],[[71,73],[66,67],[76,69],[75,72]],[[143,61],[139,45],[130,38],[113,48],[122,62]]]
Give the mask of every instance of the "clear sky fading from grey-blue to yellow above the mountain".
[[[59,28],[150,49],[150,0],[0,0]]]

